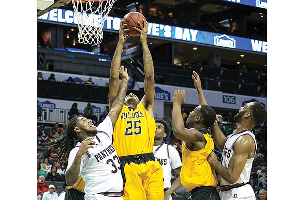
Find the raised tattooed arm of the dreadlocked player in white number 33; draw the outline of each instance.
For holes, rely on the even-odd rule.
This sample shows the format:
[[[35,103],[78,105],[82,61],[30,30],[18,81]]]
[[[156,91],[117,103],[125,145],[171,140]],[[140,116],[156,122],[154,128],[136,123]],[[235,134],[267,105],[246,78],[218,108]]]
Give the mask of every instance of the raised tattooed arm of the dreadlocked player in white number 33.
[[[117,96],[112,103],[111,110],[108,114],[108,116],[111,118],[113,128],[115,127],[117,118],[118,118],[118,116],[121,112],[122,106],[124,104],[124,99],[126,96],[126,90],[127,90],[127,86],[128,86],[128,80],[129,80],[127,68],[121,66],[119,72],[120,72],[120,76],[121,76],[121,84],[120,84]]]

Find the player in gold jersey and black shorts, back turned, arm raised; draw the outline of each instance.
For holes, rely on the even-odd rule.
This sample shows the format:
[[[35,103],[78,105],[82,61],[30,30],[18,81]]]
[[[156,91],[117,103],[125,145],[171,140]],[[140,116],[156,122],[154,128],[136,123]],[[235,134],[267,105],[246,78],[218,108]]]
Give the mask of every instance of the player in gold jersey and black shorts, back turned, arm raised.
[[[174,136],[183,140],[181,183],[191,192],[189,200],[219,200],[216,173],[207,161],[214,149],[209,127],[214,124],[216,113],[208,105],[197,106],[187,118],[190,129],[186,129],[181,114],[184,101],[185,90],[175,90],[171,124]]]

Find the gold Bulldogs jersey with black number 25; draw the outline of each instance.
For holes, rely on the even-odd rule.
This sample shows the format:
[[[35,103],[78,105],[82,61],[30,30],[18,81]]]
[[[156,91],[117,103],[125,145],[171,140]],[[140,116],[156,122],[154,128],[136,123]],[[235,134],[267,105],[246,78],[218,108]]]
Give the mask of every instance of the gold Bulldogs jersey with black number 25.
[[[151,153],[155,131],[155,120],[141,102],[135,108],[123,105],[113,133],[117,155]]]

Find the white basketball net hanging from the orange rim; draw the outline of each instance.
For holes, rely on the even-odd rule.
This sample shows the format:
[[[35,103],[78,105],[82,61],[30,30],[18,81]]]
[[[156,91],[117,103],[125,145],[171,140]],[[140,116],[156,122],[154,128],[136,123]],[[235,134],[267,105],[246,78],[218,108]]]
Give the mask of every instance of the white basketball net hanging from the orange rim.
[[[102,28],[116,0],[72,0],[78,22],[78,42],[101,43]],[[74,21],[76,23],[76,21]]]

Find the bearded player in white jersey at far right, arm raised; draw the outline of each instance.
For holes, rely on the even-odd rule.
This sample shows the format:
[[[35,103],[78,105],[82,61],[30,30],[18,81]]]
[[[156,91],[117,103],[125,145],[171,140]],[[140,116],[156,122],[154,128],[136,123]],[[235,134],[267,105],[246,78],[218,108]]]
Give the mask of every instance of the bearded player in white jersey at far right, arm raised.
[[[193,73],[192,79],[195,87],[198,87],[199,102],[206,102],[199,75]],[[266,120],[266,110],[259,102],[250,102],[241,107],[234,119],[238,122],[237,128],[227,138],[217,123],[211,126],[214,142],[223,153],[219,162],[217,155],[212,151],[208,156],[208,162],[219,174],[221,200],[255,200],[254,191],[248,184],[257,149],[255,136],[251,130]]]

